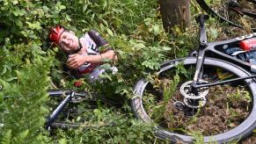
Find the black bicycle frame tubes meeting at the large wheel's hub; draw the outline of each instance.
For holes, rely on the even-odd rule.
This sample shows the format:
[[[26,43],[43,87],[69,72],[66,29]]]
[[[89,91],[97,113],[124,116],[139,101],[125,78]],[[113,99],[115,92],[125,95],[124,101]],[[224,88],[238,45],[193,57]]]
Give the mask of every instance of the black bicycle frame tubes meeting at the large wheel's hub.
[[[210,55],[215,55],[214,57],[219,57],[221,60],[225,61],[230,61],[231,63],[234,63],[238,65],[238,67],[245,68],[246,70],[250,72],[256,72],[256,66],[252,65],[249,62],[241,61],[239,59],[236,59],[229,54],[224,54],[221,52],[223,47],[238,47],[238,43],[241,40],[246,40],[250,38],[256,37],[256,32],[241,36],[235,39],[231,40],[223,40],[223,41],[216,41],[216,42],[207,42],[207,36],[206,36],[206,30],[205,30],[205,25],[204,22],[208,19],[207,15],[200,15],[197,18],[198,23],[200,24],[200,46],[198,48],[198,54],[197,54],[197,60],[196,60],[196,67],[195,67],[195,74],[194,74],[194,79],[193,83],[191,84],[192,90],[196,92],[196,89],[201,88],[201,87],[210,87],[214,85],[219,85],[219,84],[224,84],[224,83],[230,83],[230,82],[235,82],[235,81],[240,81],[248,78],[253,78],[256,77],[256,75],[252,76],[246,76],[246,77],[241,77],[241,78],[233,78],[230,80],[224,80],[222,82],[218,83],[199,83],[199,80],[201,79],[202,76],[202,67],[203,67],[203,61],[208,54]]]

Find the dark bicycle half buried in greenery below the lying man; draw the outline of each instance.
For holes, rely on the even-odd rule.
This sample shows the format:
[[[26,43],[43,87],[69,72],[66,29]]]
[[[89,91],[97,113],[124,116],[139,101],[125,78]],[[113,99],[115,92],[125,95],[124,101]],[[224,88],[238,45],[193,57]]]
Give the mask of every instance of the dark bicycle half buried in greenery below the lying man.
[[[57,107],[51,112],[46,120],[46,128],[54,129],[54,128],[90,128],[93,126],[87,126],[84,122],[86,119],[78,119],[83,118],[83,110],[80,110],[79,104],[81,102],[87,104],[86,107],[83,106],[84,111],[86,108],[95,108],[97,107],[97,100],[101,100],[105,104],[118,106],[121,103],[110,101],[98,94],[90,93],[87,91],[74,91],[74,90],[48,90],[49,97],[61,99],[60,103],[57,103]],[[56,101],[57,101],[56,99]],[[82,109],[82,108],[81,108]],[[59,119],[58,119],[59,118]],[[99,126],[114,126],[113,122],[103,123],[101,121],[100,124],[95,125],[95,127]]]

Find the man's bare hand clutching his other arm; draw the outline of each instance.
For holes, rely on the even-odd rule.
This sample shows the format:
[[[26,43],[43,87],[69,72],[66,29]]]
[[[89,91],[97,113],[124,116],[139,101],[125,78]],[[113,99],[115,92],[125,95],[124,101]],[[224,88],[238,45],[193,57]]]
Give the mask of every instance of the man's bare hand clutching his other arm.
[[[77,69],[86,62],[86,55],[70,54],[67,66],[72,69]]]

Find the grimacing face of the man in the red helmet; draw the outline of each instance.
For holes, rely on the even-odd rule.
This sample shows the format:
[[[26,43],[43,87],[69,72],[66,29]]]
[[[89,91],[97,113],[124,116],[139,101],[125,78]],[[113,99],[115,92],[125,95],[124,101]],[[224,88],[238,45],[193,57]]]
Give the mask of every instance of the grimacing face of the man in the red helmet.
[[[77,36],[73,32],[64,31],[57,45],[66,53],[72,53],[79,48]]]

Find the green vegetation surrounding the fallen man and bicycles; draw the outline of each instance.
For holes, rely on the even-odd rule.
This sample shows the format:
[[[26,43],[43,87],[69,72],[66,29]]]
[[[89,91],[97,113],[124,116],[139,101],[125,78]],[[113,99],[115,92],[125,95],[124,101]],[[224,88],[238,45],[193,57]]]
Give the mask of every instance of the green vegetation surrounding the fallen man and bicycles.
[[[187,32],[175,28],[173,35],[166,34],[157,2],[151,0],[0,0],[0,5],[0,85],[4,87],[0,91],[0,140],[3,144],[158,141],[152,126],[135,119],[128,98],[133,97],[134,84],[140,77],[150,77],[159,63],[185,56],[196,47],[197,25]],[[192,9],[193,15],[197,15],[198,6],[194,4]],[[210,19],[208,40],[216,40],[222,31],[215,23]],[[97,91],[124,103],[121,108],[99,103],[97,108],[84,111],[89,128],[50,133],[44,123],[51,110],[49,104],[55,102],[48,98],[47,90],[52,88],[52,83],[58,88],[75,89],[75,79],[62,70],[66,57],[48,45],[48,28],[58,24],[79,36],[96,29],[111,43],[119,57],[115,64],[119,72],[102,76],[106,81],[95,86],[85,80],[79,90]],[[165,92],[172,93],[167,88]],[[106,121],[114,121],[115,126],[100,126]]]

